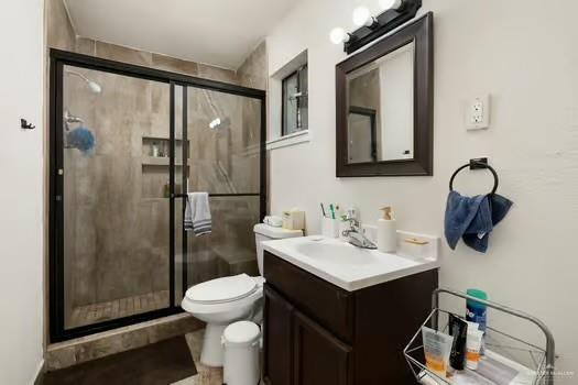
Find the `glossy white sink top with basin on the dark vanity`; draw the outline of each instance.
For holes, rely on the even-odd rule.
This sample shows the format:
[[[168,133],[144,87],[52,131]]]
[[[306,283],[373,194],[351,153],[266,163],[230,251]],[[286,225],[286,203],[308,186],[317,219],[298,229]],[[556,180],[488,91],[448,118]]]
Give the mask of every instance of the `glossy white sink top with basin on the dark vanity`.
[[[348,292],[382,284],[439,267],[437,238],[429,257],[402,256],[356,248],[347,242],[320,237],[263,242],[264,250]],[[266,274],[266,272],[265,272]]]

